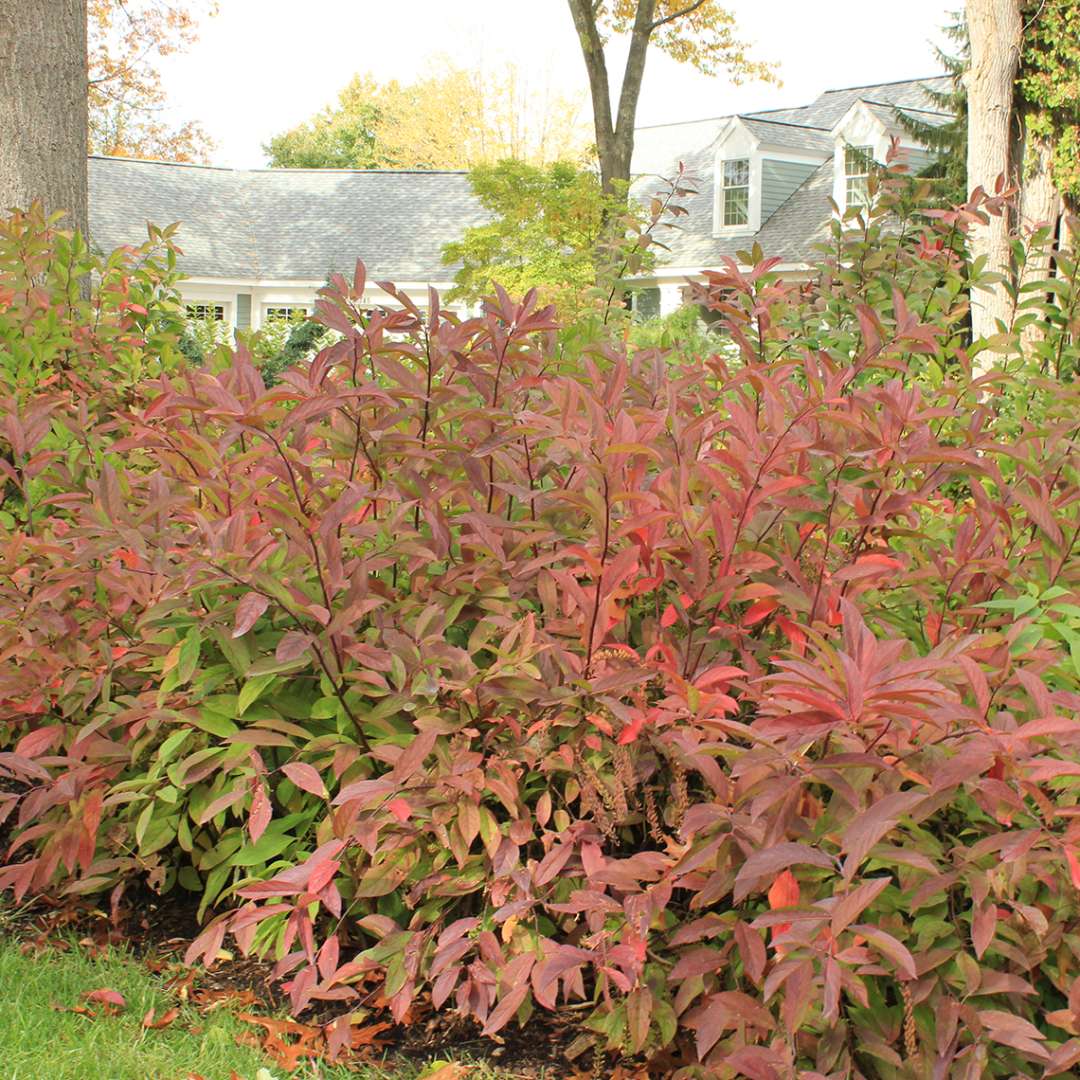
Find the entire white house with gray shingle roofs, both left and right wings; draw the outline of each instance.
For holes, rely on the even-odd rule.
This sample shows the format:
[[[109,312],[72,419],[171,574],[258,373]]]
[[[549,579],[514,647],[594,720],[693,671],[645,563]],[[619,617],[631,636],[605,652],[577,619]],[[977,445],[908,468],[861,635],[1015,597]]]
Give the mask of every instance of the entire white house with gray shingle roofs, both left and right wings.
[[[827,234],[832,207],[865,198],[873,162],[899,136],[913,171],[928,160],[902,118],[947,123],[928,91],[945,77],[829,90],[813,104],[640,127],[635,192],[649,194],[679,161],[699,180],[688,217],[670,249],[635,281],[643,313],[666,313],[687,279],[755,241],[782,271],[805,272]],[[482,224],[486,212],[462,172],[219,168],[90,159],[90,222],[96,246],[111,251],[146,239],[146,222],[180,222],[180,293],[192,316],[257,329],[310,312],[335,271],[367,266],[365,298],[392,281],[418,303],[429,286],[445,292],[454,267],[443,246]],[[384,298],[383,298],[384,299]]]

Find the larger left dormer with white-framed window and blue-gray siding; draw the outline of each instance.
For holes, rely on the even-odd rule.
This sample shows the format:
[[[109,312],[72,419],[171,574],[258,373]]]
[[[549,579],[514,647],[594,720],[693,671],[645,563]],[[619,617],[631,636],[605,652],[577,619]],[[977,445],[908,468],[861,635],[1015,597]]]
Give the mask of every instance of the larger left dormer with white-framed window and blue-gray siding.
[[[715,143],[713,235],[757,232],[832,152],[823,129],[732,117]]]

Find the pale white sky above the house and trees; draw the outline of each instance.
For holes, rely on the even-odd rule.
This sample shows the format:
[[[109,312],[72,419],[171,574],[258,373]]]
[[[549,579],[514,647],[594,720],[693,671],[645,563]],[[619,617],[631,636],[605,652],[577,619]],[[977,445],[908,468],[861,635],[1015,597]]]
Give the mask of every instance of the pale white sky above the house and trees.
[[[566,0],[217,0],[200,40],[162,64],[172,117],[198,120],[212,161],[266,164],[262,145],[334,102],[356,73],[407,82],[441,58],[495,70],[512,59],[536,85],[580,95],[584,64]],[[932,44],[960,0],[728,0],[755,59],[782,85],[733,85],[653,50],[638,125],[811,102],[823,90],[940,72]],[[618,56],[618,42],[609,46]],[[610,63],[610,62],[609,62]],[[612,82],[618,82],[612,66]]]

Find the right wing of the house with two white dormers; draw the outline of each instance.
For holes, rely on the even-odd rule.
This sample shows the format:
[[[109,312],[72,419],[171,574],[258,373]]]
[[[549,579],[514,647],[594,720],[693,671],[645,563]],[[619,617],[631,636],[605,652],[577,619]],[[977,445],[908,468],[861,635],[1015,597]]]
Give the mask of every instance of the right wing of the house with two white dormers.
[[[755,242],[782,260],[781,272],[806,272],[814,245],[828,235],[829,200],[840,207],[864,201],[873,163],[885,161],[893,136],[913,173],[929,163],[903,120],[948,123],[951,116],[929,92],[950,85],[949,78],[934,77],[828,90],[801,108],[637,129],[635,192],[651,193],[680,161],[698,181],[680,228],[662,237],[670,249],[639,279],[637,308],[666,314],[678,307],[688,279],[703,281],[703,270]]]

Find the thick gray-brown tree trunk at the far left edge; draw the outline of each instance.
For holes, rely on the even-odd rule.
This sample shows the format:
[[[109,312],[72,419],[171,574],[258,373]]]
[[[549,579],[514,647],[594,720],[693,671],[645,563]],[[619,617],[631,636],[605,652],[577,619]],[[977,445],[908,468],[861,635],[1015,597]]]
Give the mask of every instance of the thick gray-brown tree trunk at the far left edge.
[[[86,232],[86,0],[0,0],[0,214]]]

